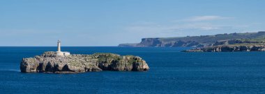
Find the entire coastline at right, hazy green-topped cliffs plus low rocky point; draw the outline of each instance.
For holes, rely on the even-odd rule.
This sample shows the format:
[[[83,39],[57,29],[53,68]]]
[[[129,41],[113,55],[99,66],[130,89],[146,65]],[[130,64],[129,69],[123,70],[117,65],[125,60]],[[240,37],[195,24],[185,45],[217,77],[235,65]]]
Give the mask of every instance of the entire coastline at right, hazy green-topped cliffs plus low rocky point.
[[[183,52],[265,51],[265,32],[245,32],[168,38],[144,38],[139,44],[120,47],[195,47]]]

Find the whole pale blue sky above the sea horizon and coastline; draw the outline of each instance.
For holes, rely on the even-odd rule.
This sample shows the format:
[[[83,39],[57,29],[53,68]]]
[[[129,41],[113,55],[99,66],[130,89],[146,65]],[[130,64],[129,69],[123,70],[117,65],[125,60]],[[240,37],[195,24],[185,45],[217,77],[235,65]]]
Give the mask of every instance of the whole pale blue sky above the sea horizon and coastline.
[[[117,46],[265,30],[264,0],[1,0],[0,46]]]

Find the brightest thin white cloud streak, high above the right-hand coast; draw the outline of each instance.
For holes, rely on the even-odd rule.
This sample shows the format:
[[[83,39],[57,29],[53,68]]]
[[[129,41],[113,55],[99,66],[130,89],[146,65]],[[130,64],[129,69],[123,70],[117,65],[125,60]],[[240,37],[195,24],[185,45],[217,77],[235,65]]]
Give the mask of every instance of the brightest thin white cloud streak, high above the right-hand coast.
[[[233,19],[232,17],[221,17],[215,15],[208,15],[208,16],[197,16],[197,17],[190,17],[188,19],[183,19],[183,21],[212,21],[212,20],[220,20],[220,19]]]

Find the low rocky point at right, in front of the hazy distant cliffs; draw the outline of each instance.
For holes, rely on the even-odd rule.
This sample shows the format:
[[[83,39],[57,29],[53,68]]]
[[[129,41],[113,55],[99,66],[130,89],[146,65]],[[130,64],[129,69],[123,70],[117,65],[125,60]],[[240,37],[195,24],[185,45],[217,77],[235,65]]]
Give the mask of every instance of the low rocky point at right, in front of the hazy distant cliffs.
[[[212,46],[205,48],[193,48],[183,52],[249,52],[265,51],[265,46]]]

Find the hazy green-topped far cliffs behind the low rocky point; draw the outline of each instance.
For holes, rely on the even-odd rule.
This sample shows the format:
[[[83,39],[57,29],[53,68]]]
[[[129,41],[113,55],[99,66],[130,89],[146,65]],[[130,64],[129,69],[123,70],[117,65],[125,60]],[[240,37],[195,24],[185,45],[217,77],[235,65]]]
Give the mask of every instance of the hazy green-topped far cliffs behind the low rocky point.
[[[265,36],[264,31],[231,33],[218,35],[201,35],[192,37],[144,38],[139,44],[119,44],[129,47],[204,47],[213,46],[216,41],[232,39],[255,39]]]

